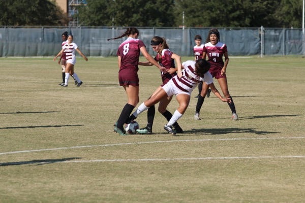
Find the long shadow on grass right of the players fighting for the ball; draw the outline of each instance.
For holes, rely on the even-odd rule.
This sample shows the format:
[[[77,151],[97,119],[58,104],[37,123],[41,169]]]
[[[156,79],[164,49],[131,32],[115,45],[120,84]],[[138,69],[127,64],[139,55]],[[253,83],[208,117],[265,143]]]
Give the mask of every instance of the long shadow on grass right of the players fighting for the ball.
[[[177,136],[197,136],[202,134],[229,134],[229,133],[255,133],[255,134],[274,134],[278,132],[271,132],[271,131],[258,131],[254,128],[217,128],[217,129],[191,129],[185,130],[183,134],[177,134]]]

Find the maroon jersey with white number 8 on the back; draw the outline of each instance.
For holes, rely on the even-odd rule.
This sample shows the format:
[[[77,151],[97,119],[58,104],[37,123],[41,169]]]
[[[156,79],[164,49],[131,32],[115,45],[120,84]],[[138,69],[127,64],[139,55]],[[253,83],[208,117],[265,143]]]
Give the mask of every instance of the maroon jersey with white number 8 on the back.
[[[119,45],[116,55],[121,57],[119,71],[126,68],[139,70],[140,48],[145,47],[144,43],[139,39],[127,38]]]

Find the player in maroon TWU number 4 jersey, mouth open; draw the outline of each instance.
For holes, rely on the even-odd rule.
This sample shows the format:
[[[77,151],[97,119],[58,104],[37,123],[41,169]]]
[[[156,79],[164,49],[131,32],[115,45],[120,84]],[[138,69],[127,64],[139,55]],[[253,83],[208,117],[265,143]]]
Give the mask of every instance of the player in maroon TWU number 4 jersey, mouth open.
[[[209,72],[212,77],[215,77],[220,85],[220,88],[226,98],[231,99],[231,103],[228,103],[231,111],[232,111],[232,119],[238,120],[238,116],[236,114],[235,105],[233,99],[228,90],[226,69],[229,62],[227,45],[220,42],[220,33],[218,29],[213,28],[210,29],[207,35],[206,44],[203,47],[203,58],[208,57],[208,61],[211,64]],[[225,61],[223,61],[223,56],[225,57]],[[208,91],[208,85],[203,84],[201,94],[198,97],[196,111],[194,115],[195,120],[201,120],[199,117],[200,109],[203,105],[204,97]]]

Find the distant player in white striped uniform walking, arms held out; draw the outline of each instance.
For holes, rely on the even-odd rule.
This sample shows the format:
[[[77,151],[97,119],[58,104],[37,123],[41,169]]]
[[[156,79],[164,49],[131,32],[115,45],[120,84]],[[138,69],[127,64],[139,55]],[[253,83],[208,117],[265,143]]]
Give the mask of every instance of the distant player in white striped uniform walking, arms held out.
[[[66,43],[63,46],[63,49],[54,57],[54,61],[56,58],[60,55],[63,54],[63,52],[66,52],[66,59],[67,59],[67,65],[66,65],[66,70],[65,70],[65,83],[60,84],[63,87],[68,87],[68,81],[70,75],[72,75],[73,78],[77,80],[77,87],[81,86],[83,83],[77,76],[76,73],[74,73],[74,65],[76,63],[76,58],[75,58],[75,50],[86,60],[88,61],[88,58],[79,50],[78,46],[73,43],[73,36],[68,35],[68,43]]]

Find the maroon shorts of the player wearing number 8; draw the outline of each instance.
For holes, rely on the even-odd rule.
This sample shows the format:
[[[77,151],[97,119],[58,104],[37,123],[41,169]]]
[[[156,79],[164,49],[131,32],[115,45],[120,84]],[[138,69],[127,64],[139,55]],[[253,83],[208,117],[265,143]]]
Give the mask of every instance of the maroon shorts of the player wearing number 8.
[[[118,72],[118,82],[120,86],[139,86],[138,72],[135,69],[122,69]]]

